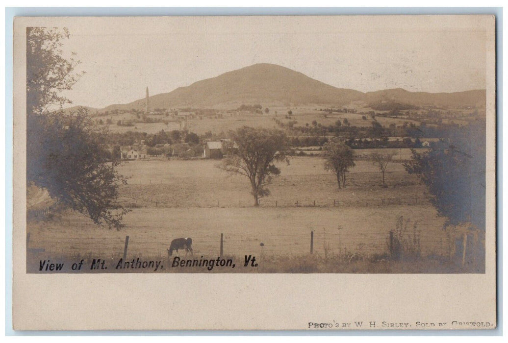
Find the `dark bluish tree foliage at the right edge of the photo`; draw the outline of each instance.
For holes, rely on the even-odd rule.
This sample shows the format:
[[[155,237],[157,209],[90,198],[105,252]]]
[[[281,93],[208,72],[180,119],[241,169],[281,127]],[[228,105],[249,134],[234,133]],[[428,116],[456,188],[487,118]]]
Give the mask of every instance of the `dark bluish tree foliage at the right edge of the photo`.
[[[439,147],[412,150],[411,161],[404,164],[427,186],[447,224],[485,229],[485,148],[485,121],[477,121],[456,129]]]

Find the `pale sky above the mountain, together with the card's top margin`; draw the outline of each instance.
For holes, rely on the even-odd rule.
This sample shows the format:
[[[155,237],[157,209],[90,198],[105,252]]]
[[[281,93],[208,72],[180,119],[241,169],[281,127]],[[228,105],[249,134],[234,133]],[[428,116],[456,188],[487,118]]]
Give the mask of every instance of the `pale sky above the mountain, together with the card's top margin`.
[[[485,18],[483,18],[485,19]],[[86,72],[64,95],[104,108],[274,63],[339,88],[486,88],[485,20],[471,16],[65,18]],[[46,24],[41,19],[43,24]],[[42,26],[42,25],[41,25]],[[50,26],[50,25],[47,25]]]

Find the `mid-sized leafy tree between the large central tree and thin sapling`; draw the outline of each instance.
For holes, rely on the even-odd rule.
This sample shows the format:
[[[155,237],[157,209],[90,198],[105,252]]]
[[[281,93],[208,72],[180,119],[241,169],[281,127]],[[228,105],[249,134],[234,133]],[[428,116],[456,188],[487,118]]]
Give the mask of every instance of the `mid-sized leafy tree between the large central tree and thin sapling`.
[[[353,150],[343,142],[330,141],[323,146],[323,156],[325,157],[325,170],[333,172],[337,177],[339,189],[346,187],[346,173],[349,168],[355,166]]]

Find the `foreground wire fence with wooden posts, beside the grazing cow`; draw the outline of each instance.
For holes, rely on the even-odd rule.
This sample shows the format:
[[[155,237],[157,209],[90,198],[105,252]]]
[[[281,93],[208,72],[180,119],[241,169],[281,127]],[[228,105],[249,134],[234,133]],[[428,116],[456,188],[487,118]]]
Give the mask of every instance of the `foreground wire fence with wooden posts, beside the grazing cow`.
[[[410,250],[419,256],[451,257],[457,251],[457,237],[447,231],[426,232],[409,230],[404,234],[385,232],[347,232],[335,230],[311,230],[287,234],[253,233],[204,233],[193,236],[192,248],[198,257],[243,255],[308,255],[328,257],[333,255],[359,254],[363,256],[390,256],[397,249]],[[127,238],[120,232],[108,237],[54,237],[38,233],[27,236],[27,249],[44,255],[97,255],[103,258],[119,257],[167,257],[172,239],[155,233],[130,234]],[[460,237],[459,237],[460,238]],[[187,255],[183,250],[175,256]]]

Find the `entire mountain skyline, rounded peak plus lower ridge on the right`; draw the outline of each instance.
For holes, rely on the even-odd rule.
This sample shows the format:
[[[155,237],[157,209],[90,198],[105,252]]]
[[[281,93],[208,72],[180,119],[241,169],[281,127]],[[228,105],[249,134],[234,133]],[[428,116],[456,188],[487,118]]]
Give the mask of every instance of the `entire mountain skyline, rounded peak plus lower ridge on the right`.
[[[253,64],[217,77],[179,87],[169,93],[150,96],[150,108],[229,108],[242,104],[263,106],[325,105],[345,106],[352,101],[365,105],[375,102],[399,102],[412,106],[438,107],[485,106],[485,90],[457,93],[409,92],[401,88],[363,93],[336,88],[269,63]],[[104,110],[144,109],[145,99],[116,104]]]

